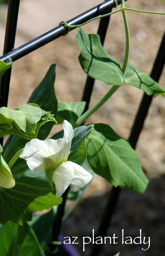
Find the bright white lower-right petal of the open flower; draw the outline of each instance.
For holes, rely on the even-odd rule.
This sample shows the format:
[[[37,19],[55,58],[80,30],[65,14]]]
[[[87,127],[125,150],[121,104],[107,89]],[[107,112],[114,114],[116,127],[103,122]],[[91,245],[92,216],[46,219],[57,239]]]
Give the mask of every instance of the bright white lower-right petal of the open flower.
[[[88,184],[90,180],[92,180],[92,175],[87,172],[82,166],[79,164],[75,164],[71,161],[67,161],[74,168],[74,176],[71,184],[81,186]]]

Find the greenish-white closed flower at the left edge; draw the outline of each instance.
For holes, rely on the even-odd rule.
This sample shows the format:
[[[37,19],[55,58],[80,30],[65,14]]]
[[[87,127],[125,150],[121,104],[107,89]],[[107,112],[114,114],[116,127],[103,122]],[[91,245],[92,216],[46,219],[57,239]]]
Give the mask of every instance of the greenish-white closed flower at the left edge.
[[[15,186],[15,180],[10,169],[2,162],[0,162],[0,186],[3,188],[13,188]]]

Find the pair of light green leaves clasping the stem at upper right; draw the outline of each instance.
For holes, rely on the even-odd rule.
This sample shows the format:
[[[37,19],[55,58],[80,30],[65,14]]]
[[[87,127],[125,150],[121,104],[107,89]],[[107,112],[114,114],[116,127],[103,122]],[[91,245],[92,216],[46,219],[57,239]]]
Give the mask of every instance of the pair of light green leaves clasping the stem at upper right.
[[[130,84],[148,95],[165,95],[165,88],[130,63],[123,78],[119,62],[104,50],[98,35],[88,35],[82,28],[79,28],[77,44],[81,48],[79,56],[81,67],[92,78],[112,85]]]

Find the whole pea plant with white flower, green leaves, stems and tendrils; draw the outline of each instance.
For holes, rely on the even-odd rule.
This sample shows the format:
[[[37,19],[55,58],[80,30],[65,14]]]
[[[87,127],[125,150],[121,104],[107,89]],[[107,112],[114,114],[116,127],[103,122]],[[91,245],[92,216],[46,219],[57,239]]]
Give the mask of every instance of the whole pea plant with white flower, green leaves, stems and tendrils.
[[[165,88],[128,62],[130,36],[126,11],[164,13],[126,8],[124,0],[117,8],[114,2],[115,11],[97,18],[122,12],[126,33],[122,67],[104,50],[97,34],[84,32],[81,26],[87,22],[78,25],[76,40],[81,49],[79,62],[83,71],[112,85],[94,106],[83,113],[86,102],[57,102],[56,65],[52,64],[28,104],[14,110],[0,108],[0,137],[10,135],[4,147],[0,145],[0,252],[3,256],[55,255],[61,246],[57,236],[62,216],[57,207],[64,208],[67,198],[75,200],[76,206],[95,174],[114,187],[136,193],[143,193],[147,188],[147,177],[130,143],[107,124],[84,125],[122,84],[154,97],[165,96]],[[67,26],[68,32],[78,27],[61,24]],[[11,66],[11,58],[0,61],[0,77]],[[47,139],[52,127],[63,122],[63,131]],[[35,214],[48,209],[51,210],[45,216]]]

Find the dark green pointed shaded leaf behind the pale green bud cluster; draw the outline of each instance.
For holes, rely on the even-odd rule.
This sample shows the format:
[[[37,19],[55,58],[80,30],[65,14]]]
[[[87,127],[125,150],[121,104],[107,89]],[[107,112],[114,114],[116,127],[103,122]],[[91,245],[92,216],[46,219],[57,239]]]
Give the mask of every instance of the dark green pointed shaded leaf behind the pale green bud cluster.
[[[31,94],[28,103],[37,104],[45,111],[51,111],[51,114],[57,115],[57,99],[55,96],[54,82],[55,82],[56,65],[50,66],[47,74],[41,83],[35,88]],[[39,130],[37,138],[45,140],[53,127],[53,122],[44,124]],[[8,163],[12,156],[21,148],[24,148],[28,140],[19,138],[18,136],[10,136],[4,146],[3,157]]]

